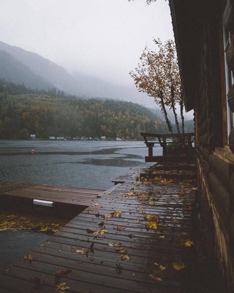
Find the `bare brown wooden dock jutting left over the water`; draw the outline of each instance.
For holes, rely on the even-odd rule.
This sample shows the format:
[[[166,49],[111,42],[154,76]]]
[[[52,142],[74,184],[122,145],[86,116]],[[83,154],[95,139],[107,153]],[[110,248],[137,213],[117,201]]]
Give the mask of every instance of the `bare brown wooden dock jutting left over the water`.
[[[0,195],[40,199],[80,206],[90,206],[104,190],[53,186],[45,184],[18,183],[12,181],[0,182]]]

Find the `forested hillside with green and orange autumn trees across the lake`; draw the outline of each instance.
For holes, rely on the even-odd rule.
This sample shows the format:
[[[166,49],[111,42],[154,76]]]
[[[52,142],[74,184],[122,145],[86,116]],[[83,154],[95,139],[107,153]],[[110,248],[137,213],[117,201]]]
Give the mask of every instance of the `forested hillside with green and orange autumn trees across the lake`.
[[[104,135],[141,139],[141,130],[165,132],[166,126],[147,108],[131,102],[59,98],[49,93],[9,95],[0,86],[0,138],[27,138],[33,133],[38,138]]]

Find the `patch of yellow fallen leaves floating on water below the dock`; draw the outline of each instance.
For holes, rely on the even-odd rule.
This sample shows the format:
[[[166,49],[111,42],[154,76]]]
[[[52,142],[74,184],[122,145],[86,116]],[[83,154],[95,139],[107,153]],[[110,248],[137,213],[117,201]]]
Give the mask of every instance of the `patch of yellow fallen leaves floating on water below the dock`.
[[[33,230],[55,233],[66,224],[64,220],[34,215],[0,214],[0,231]]]

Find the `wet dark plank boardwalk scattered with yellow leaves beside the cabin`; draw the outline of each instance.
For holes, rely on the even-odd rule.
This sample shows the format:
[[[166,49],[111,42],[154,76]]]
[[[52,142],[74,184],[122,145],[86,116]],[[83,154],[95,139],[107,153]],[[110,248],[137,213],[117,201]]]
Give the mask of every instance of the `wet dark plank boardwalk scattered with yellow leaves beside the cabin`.
[[[33,248],[33,260],[19,259],[0,292],[187,293],[195,183],[138,177]]]

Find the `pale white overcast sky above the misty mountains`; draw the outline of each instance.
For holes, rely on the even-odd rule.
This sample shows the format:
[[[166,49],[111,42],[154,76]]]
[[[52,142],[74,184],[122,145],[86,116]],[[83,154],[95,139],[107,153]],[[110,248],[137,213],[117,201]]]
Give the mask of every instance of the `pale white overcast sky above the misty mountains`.
[[[165,0],[0,0],[0,41],[115,83],[154,37],[173,38]]]

